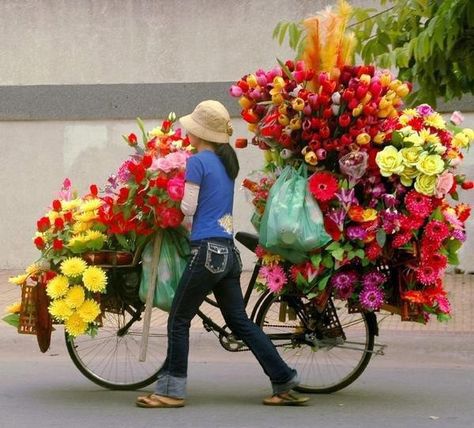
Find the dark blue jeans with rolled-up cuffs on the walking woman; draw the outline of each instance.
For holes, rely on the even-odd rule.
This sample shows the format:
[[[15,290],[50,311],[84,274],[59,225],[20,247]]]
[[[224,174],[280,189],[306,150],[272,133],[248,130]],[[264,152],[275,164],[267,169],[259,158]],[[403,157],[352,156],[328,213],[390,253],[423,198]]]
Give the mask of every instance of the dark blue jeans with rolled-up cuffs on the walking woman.
[[[191,258],[168,318],[168,352],[158,373],[156,394],[185,397],[189,328],[211,291],[229,328],[250,348],[270,378],[273,393],[288,391],[298,384],[296,370],[288,367],[268,336],[249,320],[240,288],[241,272],[242,261],[232,239],[210,238],[191,243]]]

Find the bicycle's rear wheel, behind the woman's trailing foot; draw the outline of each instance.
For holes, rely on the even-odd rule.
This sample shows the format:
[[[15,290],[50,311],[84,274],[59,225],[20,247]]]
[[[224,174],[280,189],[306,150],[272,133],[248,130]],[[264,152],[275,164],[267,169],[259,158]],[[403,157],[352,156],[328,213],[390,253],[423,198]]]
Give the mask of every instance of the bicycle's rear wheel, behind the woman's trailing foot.
[[[302,300],[301,308],[307,308]],[[270,336],[287,364],[298,371],[301,392],[331,393],[354,382],[369,363],[374,348],[375,328],[364,313],[347,313],[345,303],[334,301],[344,335],[316,340],[311,325],[314,315],[290,315],[285,296],[269,295],[257,314],[257,324]],[[283,309],[283,310],[282,310]],[[296,316],[295,316],[296,314]],[[303,320],[303,317],[306,318]]]

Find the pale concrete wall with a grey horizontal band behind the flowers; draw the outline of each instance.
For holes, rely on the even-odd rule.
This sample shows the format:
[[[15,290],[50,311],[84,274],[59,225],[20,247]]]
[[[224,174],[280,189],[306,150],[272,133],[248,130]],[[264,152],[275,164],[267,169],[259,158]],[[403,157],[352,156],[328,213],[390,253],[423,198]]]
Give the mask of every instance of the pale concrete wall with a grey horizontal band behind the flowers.
[[[0,268],[22,268],[38,256],[36,220],[65,177],[82,193],[115,171],[130,153],[121,135],[137,130],[135,117],[152,128],[168,111],[184,114],[205,98],[238,116],[226,94],[230,82],[292,56],[271,38],[277,22],[330,3],[2,0]],[[442,109],[472,112],[471,100]],[[474,127],[474,113],[466,117]],[[240,119],[234,125],[235,135],[247,135]],[[241,180],[261,165],[261,154],[251,147],[238,155]],[[474,176],[472,151],[464,168]],[[237,192],[237,230],[252,230],[250,210]],[[469,228],[474,232],[472,220]],[[464,267],[473,253],[471,238]],[[249,267],[252,257],[244,254]]]

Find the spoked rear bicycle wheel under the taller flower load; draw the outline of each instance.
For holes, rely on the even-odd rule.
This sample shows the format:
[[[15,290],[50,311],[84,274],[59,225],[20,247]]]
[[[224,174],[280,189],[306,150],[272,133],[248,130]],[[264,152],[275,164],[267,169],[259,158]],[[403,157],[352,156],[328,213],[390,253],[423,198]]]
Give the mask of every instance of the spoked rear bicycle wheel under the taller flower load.
[[[291,330],[286,344],[282,345],[282,340],[273,340],[273,342],[278,349],[283,349],[280,355],[286,363],[298,371],[300,385],[295,390],[329,394],[353,383],[365,370],[372,356],[376,331],[373,314],[349,314],[344,302],[335,301],[335,308],[346,335],[344,344],[349,345],[316,349],[315,346],[305,343],[292,342],[292,337],[297,332],[301,332],[303,323],[299,317],[290,321],[285,316],[284,321],[280,321],[282,319],[280,305],[284,300],[282,296],[269,295],[260,306],[256,323],[270,337],[272,333]],[[357,350],[351,349],[351,346],[357,346]],[[357,355],[357,358],[354,359],[354,355]]]

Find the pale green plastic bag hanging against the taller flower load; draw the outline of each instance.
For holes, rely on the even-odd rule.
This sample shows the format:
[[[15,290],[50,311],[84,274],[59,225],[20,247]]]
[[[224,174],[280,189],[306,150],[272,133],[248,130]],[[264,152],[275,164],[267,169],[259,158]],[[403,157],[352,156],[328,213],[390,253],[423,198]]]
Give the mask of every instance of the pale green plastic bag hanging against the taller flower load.
[[[260,224],[260,244],[300,263],[307,253],[330,241],[323,215],[308,189],[306,166],[288,165],[270,189]]]

